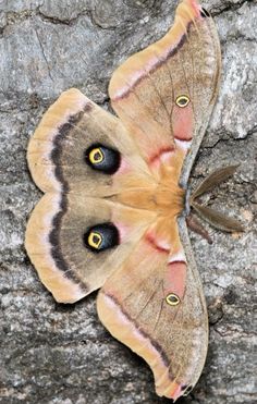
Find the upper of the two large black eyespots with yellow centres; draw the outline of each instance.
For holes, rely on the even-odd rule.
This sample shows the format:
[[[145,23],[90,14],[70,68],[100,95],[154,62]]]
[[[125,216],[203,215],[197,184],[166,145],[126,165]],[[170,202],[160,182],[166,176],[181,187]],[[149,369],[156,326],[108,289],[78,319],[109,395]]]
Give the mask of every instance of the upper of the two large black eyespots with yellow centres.
[[[114,174],[121,164],[121,155],[118,150],[101,144],[94,144],[85,151],[86,163],[103,174]]]

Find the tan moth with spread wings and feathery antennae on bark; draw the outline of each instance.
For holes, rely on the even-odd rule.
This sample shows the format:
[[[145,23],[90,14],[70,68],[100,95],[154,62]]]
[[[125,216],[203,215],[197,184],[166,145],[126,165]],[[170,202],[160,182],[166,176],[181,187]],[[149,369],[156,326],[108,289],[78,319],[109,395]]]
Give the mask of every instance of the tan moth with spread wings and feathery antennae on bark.
[[[113,73],[117,115],[69,89],[46,112],[27,151],[45,193],[25,241],[41,282],[62,303],[100,289],[101,322],[147,362],[157,394],[174,401],[196,384],[208,345],[189,210],[241,230],[197,201],[235,167],[188,191],[220,68],[212,19],[196,0],[183,0],[168,34]]]

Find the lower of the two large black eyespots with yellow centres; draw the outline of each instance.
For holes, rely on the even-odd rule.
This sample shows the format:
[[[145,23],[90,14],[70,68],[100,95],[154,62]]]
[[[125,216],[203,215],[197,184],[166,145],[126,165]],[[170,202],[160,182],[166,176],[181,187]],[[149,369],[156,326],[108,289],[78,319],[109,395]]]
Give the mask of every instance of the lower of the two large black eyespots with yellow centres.
[[[83,236],[85,246],[94,253],[113,248],[120,243],[119,230],[112,223],[96,224]]]

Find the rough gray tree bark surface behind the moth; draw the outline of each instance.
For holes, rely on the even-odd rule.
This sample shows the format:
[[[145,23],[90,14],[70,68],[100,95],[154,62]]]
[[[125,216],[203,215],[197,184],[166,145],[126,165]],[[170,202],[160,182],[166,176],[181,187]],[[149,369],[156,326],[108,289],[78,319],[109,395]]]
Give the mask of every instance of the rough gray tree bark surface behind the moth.
[[[96,293],[54,303],[24,249],[27,217],[40,198],[26,147],[44,111],[69,87],[103,107],[113,70],[160,38],[175,0],[0,0],[0,403],[169,403],[150,369],[97,319]],[[257,241],[257,3],[207,0],[220,33],[219,100],[192,174],[240,162],[206,197],[241,217],[238,236],[192,234],[210,321],[207,363],[184,404],[257,402],[254,320]],[[256,272],[255,272],[256,273]]]

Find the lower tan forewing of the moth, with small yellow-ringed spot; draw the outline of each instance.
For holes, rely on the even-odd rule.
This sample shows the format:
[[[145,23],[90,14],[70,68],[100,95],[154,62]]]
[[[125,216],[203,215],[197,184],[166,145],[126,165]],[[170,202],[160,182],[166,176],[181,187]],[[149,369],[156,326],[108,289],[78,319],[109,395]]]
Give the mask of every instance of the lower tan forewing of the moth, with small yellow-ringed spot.
[[[184,254],[176,223],[159,220],[154,230],[105,283],[98,315],[113,336],[148,363],[157,393],[176,400],[201,372],[208,319],[194,257]]]

